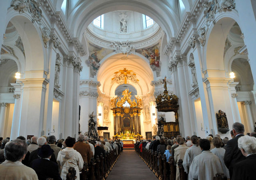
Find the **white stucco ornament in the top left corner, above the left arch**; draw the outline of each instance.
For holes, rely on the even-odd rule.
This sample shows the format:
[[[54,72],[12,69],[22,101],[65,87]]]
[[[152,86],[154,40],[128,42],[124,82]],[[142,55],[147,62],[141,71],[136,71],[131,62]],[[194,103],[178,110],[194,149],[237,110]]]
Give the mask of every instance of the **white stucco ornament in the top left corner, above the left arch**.
[[[32,23],[38,22],[40,24],[42,10],[39,8],[41,3],[37,0],[12,0],[11,6],[20,14],[27,10],[31,14]]]

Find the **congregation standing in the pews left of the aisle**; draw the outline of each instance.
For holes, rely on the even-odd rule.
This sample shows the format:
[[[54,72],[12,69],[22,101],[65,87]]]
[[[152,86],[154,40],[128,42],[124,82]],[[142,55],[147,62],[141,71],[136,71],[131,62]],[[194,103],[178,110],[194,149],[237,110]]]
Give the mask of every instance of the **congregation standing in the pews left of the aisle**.
[[[0,144],[0,180],[79,180],[84,164],[123,150],[118,140],[89,140],[84,135],[77,141],[70,136],[65,140],[33,136],[27,141],[19,136],[11,141],[1,138]]]

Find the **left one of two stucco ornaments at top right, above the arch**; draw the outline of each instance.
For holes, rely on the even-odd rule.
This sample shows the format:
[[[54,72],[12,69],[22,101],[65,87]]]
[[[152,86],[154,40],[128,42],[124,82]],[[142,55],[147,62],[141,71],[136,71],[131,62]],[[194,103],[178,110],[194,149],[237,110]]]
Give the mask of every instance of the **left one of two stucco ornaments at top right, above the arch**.
[[[215,14],[217,10],[217,0],[211,0],[209,2],[204,2],[204,18],[206,19],[207,24],[213,22],[215,24]]]

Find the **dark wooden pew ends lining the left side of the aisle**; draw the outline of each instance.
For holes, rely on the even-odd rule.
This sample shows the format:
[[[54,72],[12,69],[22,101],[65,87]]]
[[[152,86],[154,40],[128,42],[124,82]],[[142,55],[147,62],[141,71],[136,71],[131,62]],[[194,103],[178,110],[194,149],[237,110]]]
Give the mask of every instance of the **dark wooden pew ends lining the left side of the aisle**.
[[[96,157],[96,160],[92,157],[88,164],[84,163],[80,173],[80,180],[105,180],[120,154],[121,150],[118,149],[118,153],[116,150],[106,153],[105,156],[101,153],[100,156]]]

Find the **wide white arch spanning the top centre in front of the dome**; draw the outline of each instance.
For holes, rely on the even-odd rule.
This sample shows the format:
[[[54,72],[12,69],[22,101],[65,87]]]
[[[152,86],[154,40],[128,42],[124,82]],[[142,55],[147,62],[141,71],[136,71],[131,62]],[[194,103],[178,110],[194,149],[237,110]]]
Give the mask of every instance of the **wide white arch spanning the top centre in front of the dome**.
[[[72,10],[71,18],[68,19],[67,24],[71,31],[74,32],[74,37],[78,37],[81,40],[83,31],[101,14],[117,9],[132,10],[150,16],[166,32],[167,40],[169,40],[178,31],[180,22],[172,8],[166,6],[164,2],[159,1],[158,3],[158,6],[150,1],[138,2],[136,0],[110,0],[107,2],[96,0],[96,2],[89,5],[80,3]]]

